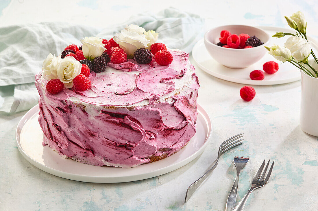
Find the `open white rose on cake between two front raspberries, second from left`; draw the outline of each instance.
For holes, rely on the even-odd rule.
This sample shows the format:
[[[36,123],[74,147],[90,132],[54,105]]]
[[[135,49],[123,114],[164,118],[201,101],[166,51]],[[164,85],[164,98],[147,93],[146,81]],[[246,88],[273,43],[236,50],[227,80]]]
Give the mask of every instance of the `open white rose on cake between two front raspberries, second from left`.
[[[66,88],[72,88],[73,79],[81,73],[82,64],[73,56],[67,56],[59,63],[57,77]]]

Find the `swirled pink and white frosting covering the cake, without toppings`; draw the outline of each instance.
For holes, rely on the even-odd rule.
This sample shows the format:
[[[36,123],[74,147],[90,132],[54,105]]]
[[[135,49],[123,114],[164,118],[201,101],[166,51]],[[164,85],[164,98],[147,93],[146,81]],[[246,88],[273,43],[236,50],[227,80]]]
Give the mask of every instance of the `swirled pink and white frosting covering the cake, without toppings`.
[[[194,136],[198,78],[189,55],[168,49],[170,65],[134,60],[91,72],[92,85],[58,94],[35,76],[43,145],[62,157],[96,166],[130,168],[181,150]]]

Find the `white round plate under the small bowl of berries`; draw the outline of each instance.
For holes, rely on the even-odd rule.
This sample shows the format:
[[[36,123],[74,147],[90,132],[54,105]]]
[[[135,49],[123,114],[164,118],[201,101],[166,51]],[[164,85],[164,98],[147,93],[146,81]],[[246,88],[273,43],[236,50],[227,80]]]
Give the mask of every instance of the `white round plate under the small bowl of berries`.
[[[267,27],[260,26],[259,28],[265,30],[269,35],[274,35],[276,32],[289,32],[295,33],[291,29],[284,29],[279,27]],[[268,46],[272,46],[274,43],[283,46],[289,35],[282,38],[271,37]],[[308,37],[311,41],[311,46],[314,51],[318,50],[318,42],[312,37]],[[192,57],[197,63],[197,66],[201,68],[204,72],[217,77],[219,79],[239,83],[239,84],[249,84],[249,85],[274,85],[274,84],[285,84],[289,82],[294,82],[301,80],[300,70],[289,62],[280,64],[273,56],[266,54],[260,61],[256,62],[250,67],[243,69],[232,69],[225,67],[222,64],[215,61],[204,46],[204,39],[198,41],[192,49]],[[276,61],[279,63],[279,70],[274,74],[265,73],[264,80],[251,80],[250,73],[253,70],[263,70],[263,64],[267,61]]]

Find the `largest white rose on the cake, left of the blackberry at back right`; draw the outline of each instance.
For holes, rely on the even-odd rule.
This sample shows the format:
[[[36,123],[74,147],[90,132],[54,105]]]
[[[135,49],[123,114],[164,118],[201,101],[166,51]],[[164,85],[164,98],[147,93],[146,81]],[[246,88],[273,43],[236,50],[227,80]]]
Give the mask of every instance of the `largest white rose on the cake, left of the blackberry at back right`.
[[[147,40],[146,35],[138,34],[137,32],[132,32],[128,30],[121,30],[121,33],[116,33],[114,36],[114,41],[124,49],[127,53],[128,59],[134,57],[135,50],[139,48],[147,48],[147,44],[150,42]]]

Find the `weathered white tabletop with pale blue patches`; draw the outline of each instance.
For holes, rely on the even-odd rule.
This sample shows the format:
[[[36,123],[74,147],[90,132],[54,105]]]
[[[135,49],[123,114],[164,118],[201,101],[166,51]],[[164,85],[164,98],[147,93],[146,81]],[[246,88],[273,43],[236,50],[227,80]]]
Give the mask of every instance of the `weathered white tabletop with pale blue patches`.
[[[307,32],[318,39],[315,0],[306,1],[0,1],[0,26],[67,21],[91,26],[120,23],[143,11],[173,6],[216,25],[248,24],[287,28],[284,16],[300,10]],[[100,18],[103,17],[103,18]],[[193,61],[193,60],[191,60]],[[193,62],[194,66],[196,64]],[[224,210],[235,178],[233,157],[249,156],[241,172],[238,200],[249,188],[264,159],[275,160],[266,186],[252,193],[245,210],[318,210],[318,139],[301,131],[301,82],[253,86],[256,97],[244,102],[243,86],[220,80],[196,68],[201,87],[198,102],[212,118],[214,131],[203,154],[168,174],[116,184],[71,181],[50,175],[28,163],[19,153],[15,130],[26,112],[0,116],[0,210]],[[317,108],[318,109],[318,108]],[[218,167],[192,198],[183,203],[187,187],[217,157],[227,137],[245,133],[245,143],[226,153]]]

